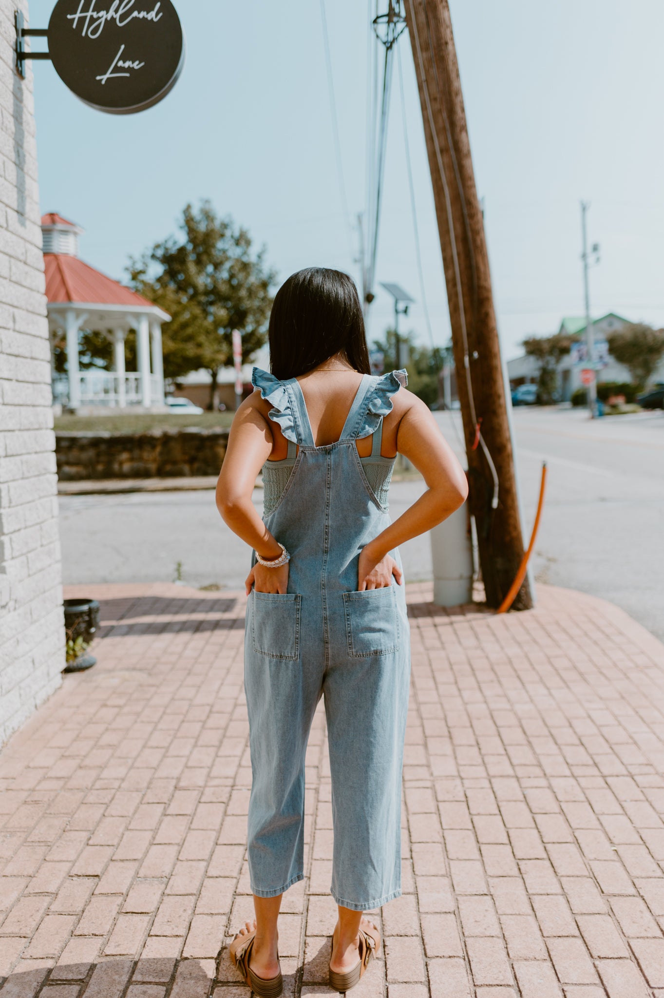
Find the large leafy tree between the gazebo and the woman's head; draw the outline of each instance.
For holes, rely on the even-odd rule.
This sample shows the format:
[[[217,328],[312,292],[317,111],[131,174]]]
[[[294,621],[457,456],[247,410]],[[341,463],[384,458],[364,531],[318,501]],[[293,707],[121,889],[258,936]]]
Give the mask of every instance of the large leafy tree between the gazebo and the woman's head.
[[[242,334],[243,361],[265,342],[275,273],[264,248],[254,253],[247,231],[203,201],[197,211],[184,208],[177,237],[132,258],[128,269],[135,290],[171,316],[163,327],[165,376],[206,368],[212,408],[219,369],[232,364],[232,330]]]

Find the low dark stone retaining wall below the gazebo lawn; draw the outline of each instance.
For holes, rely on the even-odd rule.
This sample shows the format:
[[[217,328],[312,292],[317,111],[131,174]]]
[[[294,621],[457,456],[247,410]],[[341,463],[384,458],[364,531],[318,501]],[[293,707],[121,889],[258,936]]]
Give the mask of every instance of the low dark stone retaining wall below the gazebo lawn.
[[[136,434],[63,431],[56,434],[58,477],[74,482],[218,475],[227,442],[227,429]]]

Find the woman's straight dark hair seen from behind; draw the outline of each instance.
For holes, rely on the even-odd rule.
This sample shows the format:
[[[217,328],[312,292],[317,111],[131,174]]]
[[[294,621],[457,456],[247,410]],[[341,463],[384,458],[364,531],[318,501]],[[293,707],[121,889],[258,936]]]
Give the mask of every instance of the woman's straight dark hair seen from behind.
[[[269,325],[270,366],[280,381],[306,374],[341,353],[361,374],[370,374],[362,305],[352,277],[309,266],[277,291]]]

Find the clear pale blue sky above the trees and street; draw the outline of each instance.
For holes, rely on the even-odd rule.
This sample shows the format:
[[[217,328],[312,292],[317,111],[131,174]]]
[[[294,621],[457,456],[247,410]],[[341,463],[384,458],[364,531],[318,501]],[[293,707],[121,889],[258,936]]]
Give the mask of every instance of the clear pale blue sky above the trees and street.
[[[348,203],[365,209],[369,0],[326,0]],[[98,2],[98,6],[102,6]],[[265,244],[281,279],[311,264],[355,276],[342,210],[319,0],[175,0],[187,61],[158,107],[87,108],[35,63],[42,209],[86,230],[82,255],[119,278],[130,254],[209,198]],[[386,4],[381,0],[381,7]],[[594,314],[664,324],[661,0],[451,0],[478,190],[485,199],[507,357],[528,333],[583,311],[579,199],[591,202]],[[53,0],[31,0],[46,27]],[[33,43],[37,48],[40,43]],[[425,284],[435,339],[449,337],[445,281],[408,35],[400,44]],[[377,279],[418,299],[426,342],[398,75]],[[391,317],[380,291],[370,334]]]

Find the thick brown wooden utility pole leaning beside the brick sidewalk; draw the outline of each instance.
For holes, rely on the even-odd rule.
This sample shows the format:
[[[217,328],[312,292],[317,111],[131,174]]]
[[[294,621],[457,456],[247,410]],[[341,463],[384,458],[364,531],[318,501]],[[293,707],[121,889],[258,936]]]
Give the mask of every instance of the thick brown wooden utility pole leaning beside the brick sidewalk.
[[[470,504],[490,607],[523,557],[507,401],[484,221],[448,0],[406,0],[448,288]],[[513,608],[532,606],[527,577]]]

